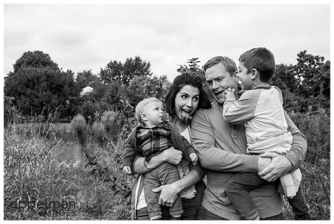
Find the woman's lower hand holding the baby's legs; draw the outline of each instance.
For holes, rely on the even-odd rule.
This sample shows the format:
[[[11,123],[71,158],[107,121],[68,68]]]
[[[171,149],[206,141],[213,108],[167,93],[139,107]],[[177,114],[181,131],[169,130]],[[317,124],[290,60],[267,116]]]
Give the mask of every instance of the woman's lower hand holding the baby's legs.
[[[173,207],[177,194],[180,193],[175,182],[173,184],[161,185],[156,189],[152,189],[152,191],[156,193],[161,191],[159,205],[167,205],[169,207]]]

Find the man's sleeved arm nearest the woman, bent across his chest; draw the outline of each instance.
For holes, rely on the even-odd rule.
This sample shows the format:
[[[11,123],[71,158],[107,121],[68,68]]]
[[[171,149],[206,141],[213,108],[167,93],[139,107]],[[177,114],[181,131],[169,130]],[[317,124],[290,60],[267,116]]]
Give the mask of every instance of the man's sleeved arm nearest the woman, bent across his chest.
[[[214,135],[204,110],[198,110],[191,121],[191,139],[204,168],[224,172],[257,172],[258,156],[230,153],[217,148]]]

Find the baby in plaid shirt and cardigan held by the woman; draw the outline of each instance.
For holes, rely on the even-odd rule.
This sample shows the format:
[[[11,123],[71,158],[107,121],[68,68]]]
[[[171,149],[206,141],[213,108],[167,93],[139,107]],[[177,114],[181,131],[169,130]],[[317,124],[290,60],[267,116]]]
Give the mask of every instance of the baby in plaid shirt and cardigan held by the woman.
[[[132,173],[131,166],[136,155],[145,157],[145,165],[145,162],[149,162],[153,155],[161,153],[170,146],[181,150],[188,162],[196,164],[198,157],[191,144],[180,135],[172,123],[165,121],[166,112],[164,112],[164,105],[161,101],[151,97],[139,102],[136,106],[136,118],[138,125],[132,130],[125,146],[123,156],[123,171],[125,173]],[[177,167],[168,162],[145,173],[144,194],[150,220],[161,219],[162,214],[158,203],[159,193],[154,193],[152,189],[160,187],[161,184],[171,184],[177,180],[180,180]],[[171,219],[180,219],[182,212],[182,202],[179,195],[173,207],[169,209]]]

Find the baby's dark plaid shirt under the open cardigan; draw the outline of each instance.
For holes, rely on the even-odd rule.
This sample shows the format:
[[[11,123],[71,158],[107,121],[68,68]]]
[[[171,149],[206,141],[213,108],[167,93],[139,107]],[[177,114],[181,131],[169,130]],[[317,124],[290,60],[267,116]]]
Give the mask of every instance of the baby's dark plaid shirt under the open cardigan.
[[[170,130],[164,124],[154,128],[138,127],[136,138],[139,147],[137,154],[150,160],[153,155],[172,146],[170,137]]]

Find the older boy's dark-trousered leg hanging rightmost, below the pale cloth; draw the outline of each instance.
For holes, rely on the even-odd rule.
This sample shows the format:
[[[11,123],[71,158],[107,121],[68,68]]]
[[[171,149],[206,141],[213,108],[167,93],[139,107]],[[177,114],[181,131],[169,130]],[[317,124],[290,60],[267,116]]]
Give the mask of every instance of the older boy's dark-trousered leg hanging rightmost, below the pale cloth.
[[[305,196],[301,187],[299,187],[296,196],[291,199],[287,198],[287,201],[292,207],[296,220],[310,219],[308,216],[308,205],[306,204]]]

